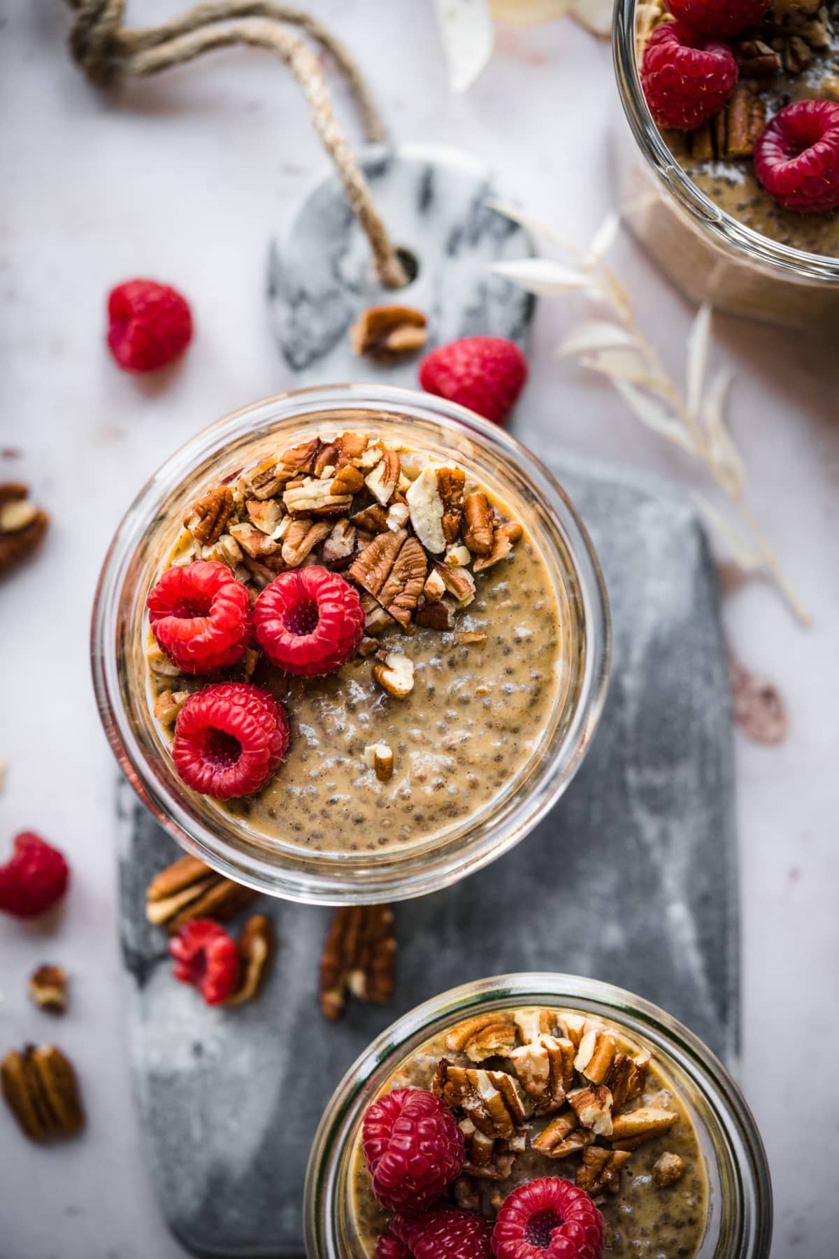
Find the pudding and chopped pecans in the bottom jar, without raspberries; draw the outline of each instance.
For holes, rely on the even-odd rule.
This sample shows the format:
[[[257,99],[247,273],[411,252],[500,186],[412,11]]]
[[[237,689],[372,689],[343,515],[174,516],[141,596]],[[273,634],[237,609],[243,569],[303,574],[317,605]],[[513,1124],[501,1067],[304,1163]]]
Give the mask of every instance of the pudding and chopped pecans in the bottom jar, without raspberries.
[[[421,1045],[379,1097],[397,1088],[433,1090],[464,1133],[453,1205],[492,1221],[518,1186],[558,1176],[597,1204],[605,1254],[699,1253],[709,1188],[697,1129],[664,1064],[614,1024],[567,1008],[493,1011]],[[360,1134],[350,1186],[352,1256],[374,1259],[389,1215]]]

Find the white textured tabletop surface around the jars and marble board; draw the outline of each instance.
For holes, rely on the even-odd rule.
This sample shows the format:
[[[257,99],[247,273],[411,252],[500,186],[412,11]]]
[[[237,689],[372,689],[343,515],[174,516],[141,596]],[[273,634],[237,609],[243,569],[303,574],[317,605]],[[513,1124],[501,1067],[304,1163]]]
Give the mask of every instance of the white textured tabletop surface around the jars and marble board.
[[[130,5],[135,21],[182,8]],[[450,98],[430,5],[318,0],[361,54],[401,140],[457,142],[502,185],[582,242],[609,204],[609,50],[574,23],[501,31],[475,87]],[[142,1166],[128,1092],[114,924],[113,763],[91,695],[88,612],[109,534],[161,457],[208,421],[282,389],[263,287],[269,233],[322,159],[296,87],[258,54],[230,53],[119,99],[97,97],[67,62],[58,0],[6,0],[0,16],[0,447],[23,458],[55,526],[40,562],[0,590],[3,844],[34,826],[74,865],[49,937],[0,923],[1,1049],[55,1036],[82,1068],[91,1126],[49,1151],[0,1114],[3,1259],[172,1259]],[[585,120],[585,125],[582,121]],[[678,366],[688,311],[630,242],[615,251],[640,315]],[[156,385],[119,375],[101,351],[108,287],[148,273],[177,283],[197,316],[184,369]],[[686,476],[677,456],[625,415],[609,389],[551,349],[570,306],[537,317],[527,441]],[[721,321],[738,374],[735,427],[751,501],[815,616],[800,631],[765,587],[732,597],[741,657],[784,691],[792,733],[779,749],[741,742],[743,866],[742,1083],[775,1175],[775,1259],[835,1251],[839,856],[835,351]],[[28,1003],[45,959],[73,974],[58,1027]],[[806,1064],[806,1070],[803,1065]],[[810,1137],[808,1142],[805,1134]]]

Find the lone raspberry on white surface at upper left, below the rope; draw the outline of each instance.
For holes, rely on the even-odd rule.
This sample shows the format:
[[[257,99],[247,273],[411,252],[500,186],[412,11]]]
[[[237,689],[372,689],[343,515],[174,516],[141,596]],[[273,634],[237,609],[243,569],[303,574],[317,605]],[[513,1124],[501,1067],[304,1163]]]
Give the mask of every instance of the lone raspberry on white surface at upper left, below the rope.
[[[186,301],[169,285],[130,279],[108,296],[108,347],[123,371],[157,371],[192,340]]]

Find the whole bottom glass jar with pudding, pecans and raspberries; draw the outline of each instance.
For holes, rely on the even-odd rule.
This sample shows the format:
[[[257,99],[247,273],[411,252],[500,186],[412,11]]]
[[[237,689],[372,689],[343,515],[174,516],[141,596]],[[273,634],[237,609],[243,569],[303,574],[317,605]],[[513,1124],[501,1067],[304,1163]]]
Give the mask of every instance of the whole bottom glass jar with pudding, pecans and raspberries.
[[[765,1259],[771,1187],[742,1095],[686,1027],[605,983],[514,974],[418,1007],[350,1069],[304,1226],[308,1259],[425,1259],[444,1234],[474,1259]]]

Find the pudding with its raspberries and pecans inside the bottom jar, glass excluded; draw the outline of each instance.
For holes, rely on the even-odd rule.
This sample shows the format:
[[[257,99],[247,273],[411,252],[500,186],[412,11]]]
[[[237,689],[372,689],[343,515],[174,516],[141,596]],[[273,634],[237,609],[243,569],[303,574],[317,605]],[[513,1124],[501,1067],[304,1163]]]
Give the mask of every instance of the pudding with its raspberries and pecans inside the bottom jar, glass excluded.
[[[435,1167],[424,1172],[413,1161],[409,1173],[400,1158],[410,1157],[408,1133],[420,1117],[439,1124],[440,1151],[435,1158],[429,1153]],[[425,1139],[431,1141],[428,1128]],[[560,1201],[551,1201],[553,1192]],[[600,1245],[592,1234],[590,1249],[557,1254],[693,1259],[699,1253],[708,1177],[697,1131],[663,1063],[618,1026],[565,1008],[497,1010],[413,1053],[367,1109],[358,1134],[352,1256],[387,1256],[380,1239],[391,1234],[425,1255],[423,1230],[411,1238],[403,1202],[468,1212],[464,1224],[450,1216],[455,1228],[478,1229],[470,1215],[487,1221],[486,1249],[477,1244],[475,1259],[491,1254],[489,1238],[502,1259],[530,1255],[499,1240],[507,1229],[514,1243],[516,1212],[521,1222],[528,1195],[531,1211],[535,1202],[564,1215],[576,1195],[581,1210],[603,1219]]]

